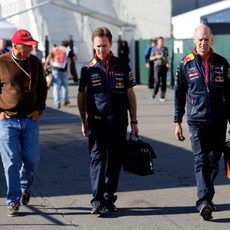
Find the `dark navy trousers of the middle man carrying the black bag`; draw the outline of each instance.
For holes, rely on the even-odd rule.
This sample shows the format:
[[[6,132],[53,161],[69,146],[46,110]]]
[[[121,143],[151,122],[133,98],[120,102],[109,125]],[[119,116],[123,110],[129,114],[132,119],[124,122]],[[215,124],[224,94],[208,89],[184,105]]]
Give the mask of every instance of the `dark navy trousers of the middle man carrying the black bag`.
[[[126,134],[126,124],[94,120],[90,125],[91,204],[95,208],[112,205],[117,199],[114,193],[118,187]]]

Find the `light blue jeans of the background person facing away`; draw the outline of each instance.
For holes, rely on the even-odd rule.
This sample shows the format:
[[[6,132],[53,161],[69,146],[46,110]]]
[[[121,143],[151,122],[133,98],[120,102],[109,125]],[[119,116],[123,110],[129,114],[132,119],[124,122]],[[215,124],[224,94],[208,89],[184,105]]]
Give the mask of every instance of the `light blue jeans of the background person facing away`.
[[[63,99],[65,102],[69,101],[68,92],[68,77],[66,72],[62,72],[56,69],[52,70],[53,75],[53,97],[55,105],[61,103],[61,87],[63,86]]]

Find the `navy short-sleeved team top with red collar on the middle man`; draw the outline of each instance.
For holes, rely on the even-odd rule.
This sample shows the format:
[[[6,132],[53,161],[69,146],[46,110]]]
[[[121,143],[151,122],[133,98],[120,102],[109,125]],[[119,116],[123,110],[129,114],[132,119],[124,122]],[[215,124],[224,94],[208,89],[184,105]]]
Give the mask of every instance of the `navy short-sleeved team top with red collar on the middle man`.
[[[127,62],[111,55],[107,64],[95,57],[81,69],[79,91],[87,93],[88,119],[127,122],[127,89],[135,85]]]

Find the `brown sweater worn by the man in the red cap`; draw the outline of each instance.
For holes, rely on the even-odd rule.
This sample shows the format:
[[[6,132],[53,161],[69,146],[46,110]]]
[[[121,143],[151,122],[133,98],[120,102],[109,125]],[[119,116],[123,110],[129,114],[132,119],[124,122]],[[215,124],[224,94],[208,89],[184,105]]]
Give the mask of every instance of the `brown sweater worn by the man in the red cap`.
[[[42,63],[33,55],[27,61],[31,81],[15,64],[11,52],[0,56],[0,112],[10,117],[26,117],[45,109],[47,85]]]

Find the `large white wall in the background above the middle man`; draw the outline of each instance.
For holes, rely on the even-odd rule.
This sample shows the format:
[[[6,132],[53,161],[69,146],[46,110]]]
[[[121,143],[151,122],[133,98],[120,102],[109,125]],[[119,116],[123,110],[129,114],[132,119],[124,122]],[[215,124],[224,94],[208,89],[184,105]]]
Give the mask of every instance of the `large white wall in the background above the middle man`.
[[[2,8],[2,17],[10,14],[25,10],[29,7],[32,0],[0,0]],[[45,33],[51,35],[53,30],[56,30],[55,39],[60,40],[63,34],[67,33],[69,26],[66,25],[67,21],[71,25],[76,25],[75,33],[71,34],[75,40],[81,41],[88,45],[89,53],[91,54],[91,33],[99,26],[108,27],[113,34],[113,47],[112,50],[117,53],[117,40],[118,36],[122,35],[122,39],[128,41],[130,46],[131,62],[134,62],[135,57],[135,40],[138,39],[150,39],[152,37],[164,36],[170,37],[171,35],[171,0],[65,0],[66,2],[72,2],[80,4],[81,6],[92,9],[92,11],[101,12],[104,15],[109,15],[114,18],[118,18],[129,23],[135,24],[134,27],[120,28],[114,25],[110,25],[100,20],[96,20],[88,16],[81,16],[80,14],[71,12],[74,16],[70,19],[64,17],[67,11],[59,9],[59,13],[55,14],[55,11],[51,10],[54,7],[43,6],[39,10],[41,16],[44,16],[44,11],[48,11],[49,17],[38,18],[34,11],[28,11],[26,13],[14,16],[7,19],[12,22],[18,28],[25,28],[31,31],[35,39],[40,41],[44,39]],[[33,0],[35,3],[41,3],[43,0]],[[64,0],[63,0],[64,2]],[[55,14],[55,15],[54,15]],[[70,14],[70,13],[68,13]],[[33,17],[37,17],[34,19]],[[65,18],[65,19],[62,19]],[[42,21],[44,20],[44,22]],[[56,24],[49,27],[52,21],[56,21]],[[46,26],[44,26],[46,25]],[[46,30],[47,27],[47,30]],[[69,31],[69,30],[68,30]],[[36,34],[37,32],[37,34]],[[68,32],[69,33],[69,32]],[[52,33],[53,34],[53,33]],[[52,36],[51,36],[52,37]],[[86,45],[85,45],[86,46]],[[84,48],[85,49],[85,48]],[[86,51],[85,51],[86,52]],[[87,56],[87,55],[86,55]]]

